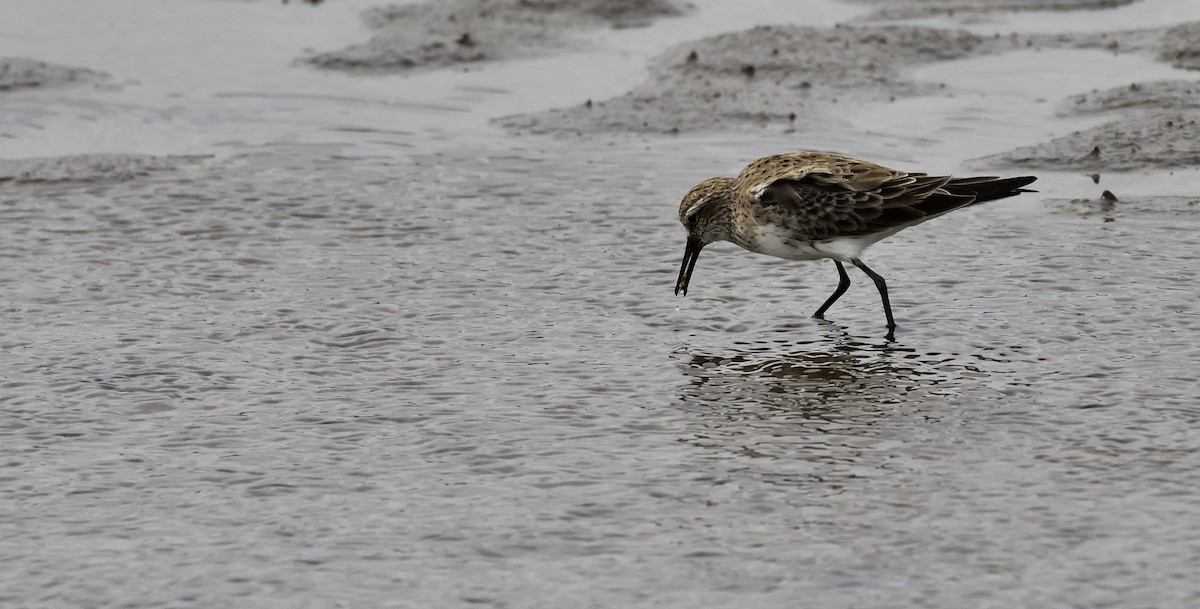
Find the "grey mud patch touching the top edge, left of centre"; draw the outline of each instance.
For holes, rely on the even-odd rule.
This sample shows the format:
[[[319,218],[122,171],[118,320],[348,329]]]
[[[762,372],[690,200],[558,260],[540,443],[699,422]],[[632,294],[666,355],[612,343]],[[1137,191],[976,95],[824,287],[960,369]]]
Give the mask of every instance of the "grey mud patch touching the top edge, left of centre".
[[[373,8],[362,44],[305,61],[350,71],[445,67],[545,54],[572,31],[646,25],[686,7],[667,0],[449,0]]]

